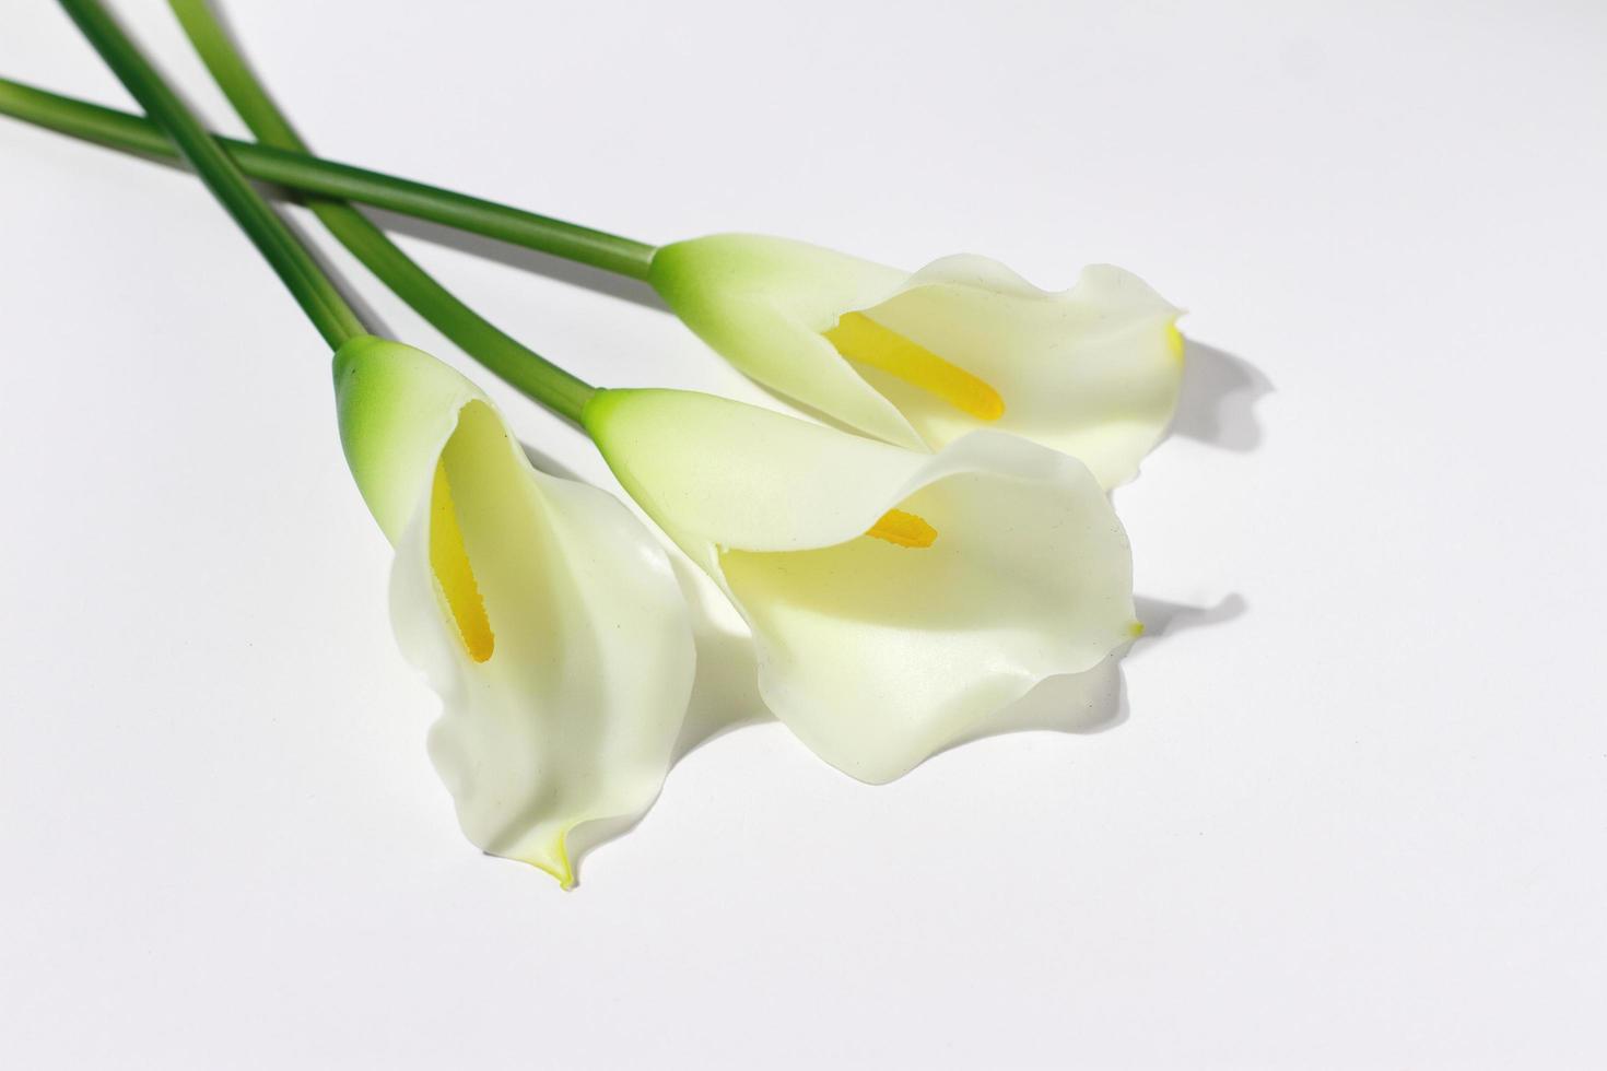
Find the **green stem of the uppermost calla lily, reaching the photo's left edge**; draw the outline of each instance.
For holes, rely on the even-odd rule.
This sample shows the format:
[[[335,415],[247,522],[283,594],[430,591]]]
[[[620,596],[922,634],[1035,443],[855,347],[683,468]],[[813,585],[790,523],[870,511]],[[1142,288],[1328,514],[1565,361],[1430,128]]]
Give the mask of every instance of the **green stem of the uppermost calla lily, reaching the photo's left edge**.
[[[0,112],[116,149],[177,156],[162,132],[146,119],[37,90],[19,82],[0,79]],[[214,140],[252,178],[278,183],[299,193],[357,201],[374,209],[400,212],[472,234],[485,234],[514,246],[537,249],[632,279],[646,279],[648,268],[652,265],[654,247],[630,238],[579,223],[566,223],[484,198],[439,189],[408,178],[394,178],[350,164],[336,164],[233,138],[219,136]]]

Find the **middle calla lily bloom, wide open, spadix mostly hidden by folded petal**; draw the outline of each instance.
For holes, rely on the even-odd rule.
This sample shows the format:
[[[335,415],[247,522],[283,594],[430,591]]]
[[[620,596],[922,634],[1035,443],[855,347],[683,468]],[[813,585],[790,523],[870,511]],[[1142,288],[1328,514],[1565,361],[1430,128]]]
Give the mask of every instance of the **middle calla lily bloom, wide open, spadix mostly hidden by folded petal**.
[[[932,454],[678,390],[604,390],[583,421],[747,620],[771,711],[861,780],[1136,636],[1127,533],[1065,454],[998,432]]]

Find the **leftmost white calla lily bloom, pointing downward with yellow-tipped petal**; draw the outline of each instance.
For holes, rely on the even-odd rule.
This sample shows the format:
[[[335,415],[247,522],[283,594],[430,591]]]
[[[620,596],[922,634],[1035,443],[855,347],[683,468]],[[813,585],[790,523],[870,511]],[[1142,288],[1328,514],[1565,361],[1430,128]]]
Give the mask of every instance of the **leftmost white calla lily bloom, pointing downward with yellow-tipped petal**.
[[[440,694],[429,753],[464,835],[574,883],[657,796],[693,682],[664,549],[617,499],[535,470],[490,400],[411,347],[334,358],[341,442],[395,546],[391,613]]]

